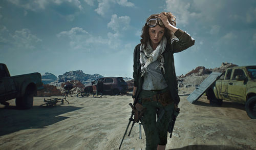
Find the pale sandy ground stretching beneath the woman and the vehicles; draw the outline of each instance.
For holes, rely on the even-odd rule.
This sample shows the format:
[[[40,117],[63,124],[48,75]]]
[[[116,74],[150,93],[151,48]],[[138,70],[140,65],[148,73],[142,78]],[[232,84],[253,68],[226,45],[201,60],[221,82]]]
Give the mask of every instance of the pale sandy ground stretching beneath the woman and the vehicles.
[[[244,105],[210,106],[206,96],[190,104],[186,98],[193,90],[180,89],[181,113],[166,149],[256,149],[256,119],[247,116]],[[30,110],[17,110],[15,100],[9,109],[0,105],[0,149],[118,149],[131,116],[131,96],[67,100],[47,107],[40,106],[44,97],[35,97]],[[145,149],[143,127],[142,139],[136,123],[121,149]]]

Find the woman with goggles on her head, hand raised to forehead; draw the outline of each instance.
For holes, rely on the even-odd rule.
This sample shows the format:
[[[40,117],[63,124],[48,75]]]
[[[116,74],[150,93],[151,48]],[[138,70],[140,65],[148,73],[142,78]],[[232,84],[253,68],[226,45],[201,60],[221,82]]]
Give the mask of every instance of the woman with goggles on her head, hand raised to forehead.
[[[195,44],[189,34],[176,28],[175,20],[170,12],[148,17],[141,44],[134,50],[133,100],[146,108],[140,119],[146,149],[165,149],[168,125],[180,101],[173,53]]]

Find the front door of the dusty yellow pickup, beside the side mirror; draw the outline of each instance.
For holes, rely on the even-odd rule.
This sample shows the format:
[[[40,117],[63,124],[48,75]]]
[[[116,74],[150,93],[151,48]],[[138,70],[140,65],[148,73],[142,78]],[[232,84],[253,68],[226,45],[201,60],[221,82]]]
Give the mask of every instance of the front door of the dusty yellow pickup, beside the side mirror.
[[[236,80],[237,75],[246,78],[243,69],[235,69],[232,78],[228,82],[228,96],[232,101],[245,102],[246,82],[244,80]]]

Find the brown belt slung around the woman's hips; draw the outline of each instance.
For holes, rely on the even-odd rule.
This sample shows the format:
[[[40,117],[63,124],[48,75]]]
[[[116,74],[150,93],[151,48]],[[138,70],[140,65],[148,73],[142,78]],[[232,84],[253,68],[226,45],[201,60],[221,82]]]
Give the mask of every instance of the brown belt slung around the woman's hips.
[[[155,94],[150,98],[141,98],[141,102],[146,102],[146,101],[160,102],[163,106],[166,106],[174,102],[174,100],[172,99],[172,96],[170,95],[169,90],[160,94]]]

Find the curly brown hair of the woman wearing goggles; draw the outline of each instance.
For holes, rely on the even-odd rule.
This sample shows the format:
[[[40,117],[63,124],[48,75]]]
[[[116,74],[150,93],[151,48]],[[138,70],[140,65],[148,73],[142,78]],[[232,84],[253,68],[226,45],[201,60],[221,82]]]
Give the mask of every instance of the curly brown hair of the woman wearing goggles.
[[[172,24],[173,26],[176,27],[176,17],[170,13],[170,12],[162,12],[161,14],[164,14],[167,16],[169,23]],[[148,17],[146,19],[146,23],[142,28],[142,34],[141,34],[141,39],[140,42],[142,45],[144,45],[144,48],[147,46],[146,42],[148,40],[150,40],[150,33],[148,32],[148,30],[150,29],[150,27],[147,25],[148,20],[152,19],[152,18],[157,18],[159,14],[152,14],[150,17]],[[164,36],[167,39],[167,43],[169,44],[172,41],[172,38],[174,38],[174,33],[172,31],[170,31],[169,29],[164,27]]]

